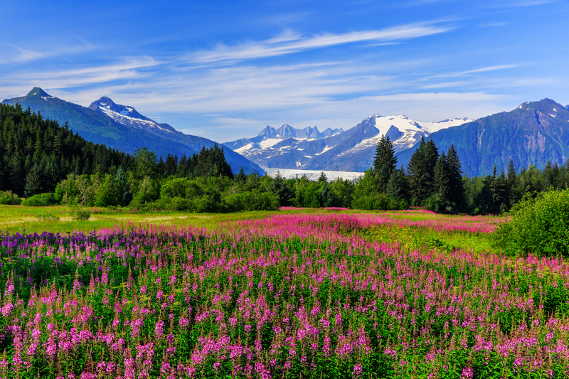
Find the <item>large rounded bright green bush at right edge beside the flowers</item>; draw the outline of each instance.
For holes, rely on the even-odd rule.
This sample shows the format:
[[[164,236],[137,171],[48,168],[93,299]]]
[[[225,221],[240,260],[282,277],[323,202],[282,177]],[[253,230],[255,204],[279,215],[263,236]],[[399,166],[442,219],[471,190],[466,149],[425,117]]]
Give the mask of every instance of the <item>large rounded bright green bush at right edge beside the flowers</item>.
[[[569,255],[569,189],[526,196],[509,215],[493,235],[496,247],[509,255]]]

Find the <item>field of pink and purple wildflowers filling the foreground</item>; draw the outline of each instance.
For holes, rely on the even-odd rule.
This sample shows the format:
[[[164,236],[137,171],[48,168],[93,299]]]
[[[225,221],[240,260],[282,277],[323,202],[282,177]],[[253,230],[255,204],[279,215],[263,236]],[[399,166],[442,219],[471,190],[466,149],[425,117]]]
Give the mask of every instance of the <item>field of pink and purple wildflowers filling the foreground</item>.
[[[0,375],[569,376],[569,265],[487,247],[503,218],[230,219],[0,232]]]

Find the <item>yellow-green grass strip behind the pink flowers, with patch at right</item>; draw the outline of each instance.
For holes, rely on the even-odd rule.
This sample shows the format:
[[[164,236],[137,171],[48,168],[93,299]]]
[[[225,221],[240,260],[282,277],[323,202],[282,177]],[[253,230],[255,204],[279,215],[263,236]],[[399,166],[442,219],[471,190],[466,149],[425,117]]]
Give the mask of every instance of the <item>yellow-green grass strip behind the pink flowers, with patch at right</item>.
[[[91,218],[85,221],[72,220],[70,207],[55,205],[49,207],[26,207],[23,205],[0,205],[0,231],[3,233],[71,233],[74,230],[90,232],[102,228],[113,228],[115,225],[127,223],[152,223],[186,225],[196,228],[216,230],[228,221],[245,220],[251,218],[265,218],[270,215],[283,213],[377,213],[392,218],[407,218],[409,220],[453,219],[459,216],[433,215],[430,213],[405,213],[404,211],[368,211],[368,210],[325,210],[304,208],[302,210],[276,210],[240,213],[116,213],[112,210],[103,210],[103,213],[92,213]],[[42,220],[38,215],[55,215],[60,220]],[[400,242],[408,248],[437,248],[452,252],[456,248],[472,250],[474,252],[490,252],[491,247],[487,235],[472,235],[470,233],[445,233],[420,228],[392,227],[371,228],[361,233],[368,240],[381,240],[382,242]]]

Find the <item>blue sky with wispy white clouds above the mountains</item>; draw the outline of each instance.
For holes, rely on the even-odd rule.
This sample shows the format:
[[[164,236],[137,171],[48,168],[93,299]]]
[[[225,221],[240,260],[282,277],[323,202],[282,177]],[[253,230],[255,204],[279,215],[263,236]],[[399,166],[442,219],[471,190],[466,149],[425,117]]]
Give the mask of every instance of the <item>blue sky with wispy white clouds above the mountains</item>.
[[[0,97],[101,96],[227,142],[267,124],[569,104],[569,1],[11,1]]]

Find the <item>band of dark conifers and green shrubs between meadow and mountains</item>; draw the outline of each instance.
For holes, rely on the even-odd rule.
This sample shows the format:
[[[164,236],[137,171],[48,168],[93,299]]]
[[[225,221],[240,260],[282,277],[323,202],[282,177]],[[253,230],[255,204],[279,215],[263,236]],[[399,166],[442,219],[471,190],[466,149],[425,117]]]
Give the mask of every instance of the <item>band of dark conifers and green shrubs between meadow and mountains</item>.
[[[271,210],[280,206],[406,209],[438,213],[502,213],[527,193],[565,188],[567,165],[531,166],[506,174],[462,175],[454,146],[439,151],[422,139],[406,168],[389,137],[381,137],[373,166],[356,181],[321,174],[285,179],[234,174],[223,147],[166,159],[154,151],[127,154],[88,142],[40,113],[0,105],[0,203],[55,203],[154,208],[193,212]],[[8,193],[7,191],[10,191]]]

